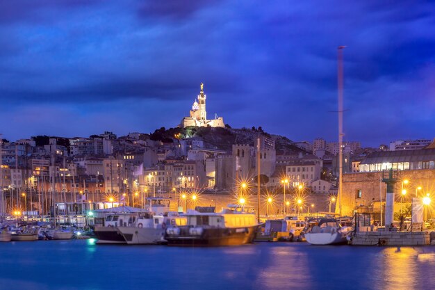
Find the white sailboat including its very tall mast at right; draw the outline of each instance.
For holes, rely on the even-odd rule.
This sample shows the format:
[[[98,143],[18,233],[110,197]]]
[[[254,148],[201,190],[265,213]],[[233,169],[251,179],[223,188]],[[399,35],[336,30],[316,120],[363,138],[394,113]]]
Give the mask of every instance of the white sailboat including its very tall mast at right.
[[[341,196],[343,190],[343,49],[338,47],[338,209],[341,222]],[[305,234],[311,245],[333,245],[347,243],[352,227],[341,227],[335,218],[323,218],[317,226]]]

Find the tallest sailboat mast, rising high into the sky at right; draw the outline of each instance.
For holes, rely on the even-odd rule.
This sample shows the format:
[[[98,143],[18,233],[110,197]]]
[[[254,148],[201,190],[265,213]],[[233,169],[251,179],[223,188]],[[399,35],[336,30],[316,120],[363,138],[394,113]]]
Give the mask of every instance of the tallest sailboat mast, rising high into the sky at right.
[[[341,224],[341,196],[343,195],[343,49],[338,47],[338,211]]]

